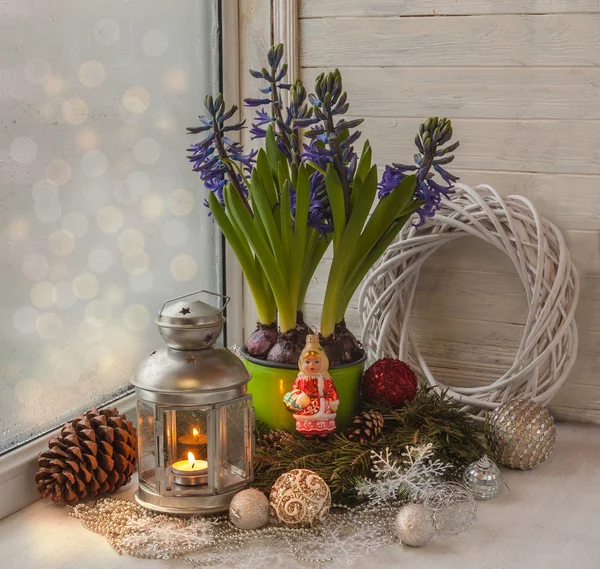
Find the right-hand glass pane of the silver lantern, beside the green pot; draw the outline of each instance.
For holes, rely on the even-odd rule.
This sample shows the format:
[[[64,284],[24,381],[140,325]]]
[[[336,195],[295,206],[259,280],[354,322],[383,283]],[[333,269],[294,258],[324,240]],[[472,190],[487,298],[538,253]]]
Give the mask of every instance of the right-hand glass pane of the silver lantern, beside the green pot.
[[[219,489],[244,484],[252,475],[250,407],[250,397],[243,397],[220,409]]]

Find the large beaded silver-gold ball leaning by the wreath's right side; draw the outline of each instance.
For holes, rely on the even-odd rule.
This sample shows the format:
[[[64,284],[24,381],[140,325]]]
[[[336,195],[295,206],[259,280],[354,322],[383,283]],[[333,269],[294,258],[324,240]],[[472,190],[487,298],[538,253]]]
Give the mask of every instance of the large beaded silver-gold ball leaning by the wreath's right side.
[[[485,436],[497,462],[526,470],[550,456],[556,425],[550,411],[539,403],[512,399],[488,415]]]

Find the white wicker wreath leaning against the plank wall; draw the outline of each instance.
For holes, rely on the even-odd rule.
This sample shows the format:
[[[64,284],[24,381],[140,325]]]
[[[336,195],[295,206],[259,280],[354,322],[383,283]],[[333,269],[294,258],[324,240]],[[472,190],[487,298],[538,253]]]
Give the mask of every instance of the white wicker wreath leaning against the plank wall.
[[[436,380],[410,330],[410,312],[423,263],[446,243],[472,235],[511,259],[527,293],[529,312],[510,369],[489,385],[456,387]],[[399,357],[432,386],[464,404],[478,421],[513,397],[545,405],[566,380],[577,354],[575,308],[579,277],[560,230],[522,196],[456,185],[436,216],[407,225],[368,274],[359,297],[362,341],[369,361]]]

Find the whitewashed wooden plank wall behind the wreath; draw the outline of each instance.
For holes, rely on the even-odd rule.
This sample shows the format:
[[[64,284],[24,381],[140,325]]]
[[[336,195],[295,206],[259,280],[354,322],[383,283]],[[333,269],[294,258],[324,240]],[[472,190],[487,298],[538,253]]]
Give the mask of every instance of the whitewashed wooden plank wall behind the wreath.
[[[452,119],[452,172],[531,198],[561,227],[582,277],[578,362],[552,409],[600,423],[600,0],[300,0],[310,85],[338,67],[378,164],[414,153],[419,122]],[[309,291],[317,323],[326,258]],[[356,299],[355,299],[356,300]],[[464,239],[423,270],[415,330],[455,385],[498,377],[522,333],[525,294],[510,262]],[[348,312],[356,330],[356,304]]]

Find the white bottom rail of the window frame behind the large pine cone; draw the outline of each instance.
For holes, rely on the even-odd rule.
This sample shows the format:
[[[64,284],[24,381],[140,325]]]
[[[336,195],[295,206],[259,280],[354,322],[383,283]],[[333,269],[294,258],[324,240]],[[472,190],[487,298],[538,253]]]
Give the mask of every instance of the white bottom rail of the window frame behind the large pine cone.
[[[107,407],[118,407],[135,423],[135,405],[135,395],[131,393]],[[60,433],[61,429],[62,425],[0,457],[0,520],[40,499],[33,481],[37,456],[48,448],[50,437]]]

